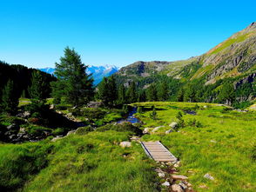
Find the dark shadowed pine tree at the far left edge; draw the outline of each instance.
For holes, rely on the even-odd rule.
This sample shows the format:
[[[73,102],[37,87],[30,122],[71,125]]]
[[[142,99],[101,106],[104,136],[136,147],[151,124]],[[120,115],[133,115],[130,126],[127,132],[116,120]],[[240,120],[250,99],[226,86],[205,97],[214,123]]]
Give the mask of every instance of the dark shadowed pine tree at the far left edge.
[[[13,81],[9,80],[3,88],[3,111],[10,115],[15,115],[17,113],[18,97]]]

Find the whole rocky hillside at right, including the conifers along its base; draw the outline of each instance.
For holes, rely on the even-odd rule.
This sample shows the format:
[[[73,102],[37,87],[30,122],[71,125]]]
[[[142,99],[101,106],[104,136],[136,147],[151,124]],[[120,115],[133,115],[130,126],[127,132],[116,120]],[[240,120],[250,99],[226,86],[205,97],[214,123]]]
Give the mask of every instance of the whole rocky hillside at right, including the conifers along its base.
[[[136,83],[138,95],[152,89],[161,92],[166,86],[168,101],[226,103],[236,107],[245,107],[255,98],[255,76],[256,23],[202,56],[177,62],[132,63],[115,74],[118,84],[129,87],[131,82]],[[146,100],[165,101],[161,96],[147,96]]]

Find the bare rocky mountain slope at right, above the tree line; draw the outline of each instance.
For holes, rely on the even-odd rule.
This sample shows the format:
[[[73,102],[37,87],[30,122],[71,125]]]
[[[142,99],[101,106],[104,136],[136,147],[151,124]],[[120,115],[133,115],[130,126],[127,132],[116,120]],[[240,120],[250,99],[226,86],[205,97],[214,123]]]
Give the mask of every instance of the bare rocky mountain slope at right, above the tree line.
[[[120,69],[116,76],[118,83],[127,85],[135,81],[144,88],[158,76],[169,76],[181,83],[200,82],[205,86],[230,79],[235,89],[244,83],[253,83],[256,77],[256,22],[201,56],[176,62],[132,63]]]

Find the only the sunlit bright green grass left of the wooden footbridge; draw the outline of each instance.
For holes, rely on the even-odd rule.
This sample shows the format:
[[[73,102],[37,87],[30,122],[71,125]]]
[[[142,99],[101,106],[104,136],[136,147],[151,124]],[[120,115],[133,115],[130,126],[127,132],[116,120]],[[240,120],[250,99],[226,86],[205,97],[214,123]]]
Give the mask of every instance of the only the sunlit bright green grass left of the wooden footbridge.
[[[49,166],[24,191],[156,191],[153,162],[138,143],[119,147],[127,140],[125,132],[116,131],[58,140]]]

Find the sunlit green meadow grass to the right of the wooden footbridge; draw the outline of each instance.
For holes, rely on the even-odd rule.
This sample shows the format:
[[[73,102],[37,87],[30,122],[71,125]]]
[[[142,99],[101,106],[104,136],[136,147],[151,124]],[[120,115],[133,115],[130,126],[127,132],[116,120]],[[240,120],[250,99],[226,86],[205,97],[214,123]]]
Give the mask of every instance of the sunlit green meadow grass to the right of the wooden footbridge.
[[[217,104],[198,103],[197,115],[183,115],[185,122],[196,119],[202,128],[185,126],[179,132],[165,135],[168,124],[178,121],[176,115],[182,109],[192,109],[195,103],[135,103],[156,106],[158,119],[149,118],[150,111],[138,115],[145,127],[165,125],[145,141],[160,140],[172,153],[181,159],[181,174],[189,176],[193,188],[205,184],[208,191],[255,191],[256,189],[256,113],[239,113]],[[188,171],[192,170],[193,174]],[[210,173],[215,180],[203,176]]]

